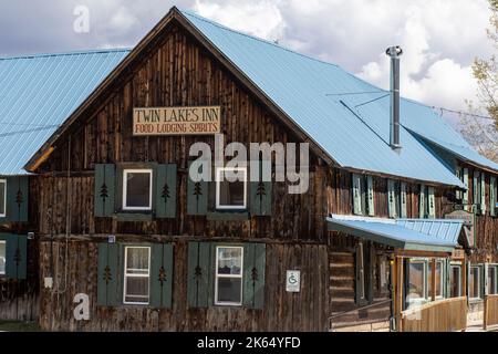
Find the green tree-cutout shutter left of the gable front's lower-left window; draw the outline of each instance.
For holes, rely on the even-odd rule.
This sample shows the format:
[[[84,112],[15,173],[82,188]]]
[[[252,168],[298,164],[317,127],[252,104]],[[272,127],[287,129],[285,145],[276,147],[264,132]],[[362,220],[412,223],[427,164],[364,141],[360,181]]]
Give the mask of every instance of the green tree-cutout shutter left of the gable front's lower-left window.
[[[98,244],[97,305],[123,304],[123,247],[116,243]]]

